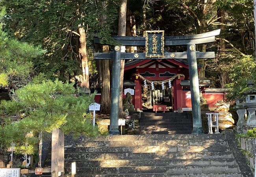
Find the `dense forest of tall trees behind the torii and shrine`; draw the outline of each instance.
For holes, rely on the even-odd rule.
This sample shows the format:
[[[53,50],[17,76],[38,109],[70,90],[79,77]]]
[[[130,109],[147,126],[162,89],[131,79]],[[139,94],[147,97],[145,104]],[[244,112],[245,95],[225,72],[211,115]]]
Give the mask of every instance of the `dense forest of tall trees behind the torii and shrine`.
[[[93,52],[112,49],[96,46],[94,36],[115,44],[111,35],[143,36],[145,30],[165,30],[165,36],[181,36],[221,29],[214,44],[197,46],[198,51],[214,51],[216,56],[198,60],[200,79],[210,79],[213,88],[230,88],[229,99],[239,97],[248,79],[256,80],[252,0],[1,0],[0,6],[6,7],[2,20],[6,35],[45,51],[30,59],[33,70],[26,77],[41,73],[52,80],[76,81],[80,87],[102,87],[101,103],[106,108],[102,113],[109,113],[111,61],[95,61]],[[166,50],[183,52],[184,46]],[[13,88],[30,81],[19,75],[7,76]]]

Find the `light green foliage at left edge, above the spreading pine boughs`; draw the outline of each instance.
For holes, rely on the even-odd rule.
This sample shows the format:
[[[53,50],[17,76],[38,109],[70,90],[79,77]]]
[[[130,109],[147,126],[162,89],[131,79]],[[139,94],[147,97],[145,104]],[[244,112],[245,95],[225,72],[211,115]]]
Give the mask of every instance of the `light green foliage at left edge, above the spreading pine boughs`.
[[[33,72],[31,59],[36,58],[45,50],[41,46],[33,46],[26,42],[19,42],[17,39],[9,39],[7,33],[2,31],[2,17],[5,8],[0,12],[0,87],[8,87],[11,83],[19,82],[26,84],[29,81],[30,74]],[[17,83],[19,87],[19,83]]]

